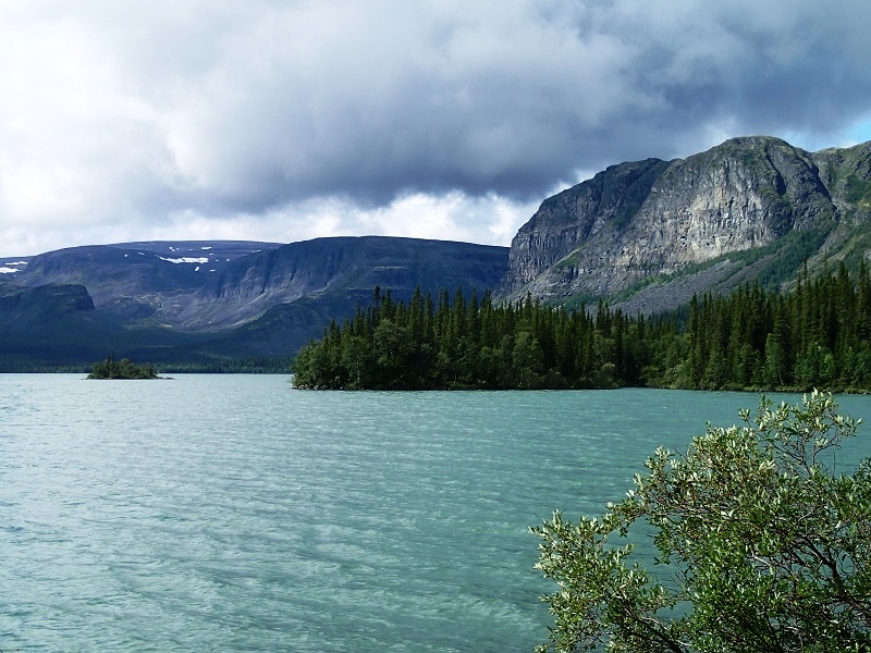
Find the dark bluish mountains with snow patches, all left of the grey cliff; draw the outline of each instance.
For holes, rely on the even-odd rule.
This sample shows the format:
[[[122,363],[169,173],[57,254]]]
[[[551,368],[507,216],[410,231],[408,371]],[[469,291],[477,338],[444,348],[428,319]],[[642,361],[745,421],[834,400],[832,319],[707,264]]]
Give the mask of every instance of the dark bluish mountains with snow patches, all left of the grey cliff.
[[[11,260],[11,259],[10,259]],[[226,369],[289,358],[331,319],[416,287],[496,286],[507,248],[388,237],[124,243],[16,259],[0,274],[0,371],[116,356]]]

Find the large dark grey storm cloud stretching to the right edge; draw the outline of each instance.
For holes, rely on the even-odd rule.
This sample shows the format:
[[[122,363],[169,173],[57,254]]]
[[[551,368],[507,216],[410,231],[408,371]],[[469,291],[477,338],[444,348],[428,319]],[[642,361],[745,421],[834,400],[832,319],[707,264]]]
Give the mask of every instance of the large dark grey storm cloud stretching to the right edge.
[[[175,98],[182,170],[250,210],[535,195],[726,128],[834,135],[871,97],[859,2],[283,7]]]

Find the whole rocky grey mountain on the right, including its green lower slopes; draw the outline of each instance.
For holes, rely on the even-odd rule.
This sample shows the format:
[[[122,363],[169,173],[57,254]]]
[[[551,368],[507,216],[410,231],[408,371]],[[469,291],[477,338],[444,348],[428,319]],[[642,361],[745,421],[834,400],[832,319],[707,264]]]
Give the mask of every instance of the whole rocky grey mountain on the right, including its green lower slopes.
[[[871,143],[810,153],[733,138],[613,165],[545,199],[512,241],[501,293],[654,312],[746,280],[789,281],[805,259],[861,258],[870,217]]]

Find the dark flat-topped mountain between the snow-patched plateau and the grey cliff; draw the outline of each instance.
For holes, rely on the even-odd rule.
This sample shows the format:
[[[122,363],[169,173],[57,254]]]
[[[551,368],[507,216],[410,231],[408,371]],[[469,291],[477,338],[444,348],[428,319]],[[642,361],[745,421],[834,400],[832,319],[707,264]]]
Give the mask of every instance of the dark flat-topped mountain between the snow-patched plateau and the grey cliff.
[[[187,306],[171,310],[189,329],[212,330],[191,352],[211,358],[290,356],[320,337],[331,319],[367,306],[376,286],[394,299],[409,299],[417,287],[433,299],[449,288],[468,296],[499,285],[507,254],[505,247],[446,241],[316,238],[234,261],[189,296]]]

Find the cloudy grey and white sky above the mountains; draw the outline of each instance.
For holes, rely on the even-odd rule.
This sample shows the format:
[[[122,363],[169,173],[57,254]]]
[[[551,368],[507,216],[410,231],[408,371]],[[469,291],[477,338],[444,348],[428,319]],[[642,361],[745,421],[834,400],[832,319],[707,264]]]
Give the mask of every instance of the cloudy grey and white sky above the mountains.
[[[622,161],[871,139],[870,24],[867,0],[0,0],[0,257],[508,245]]]

